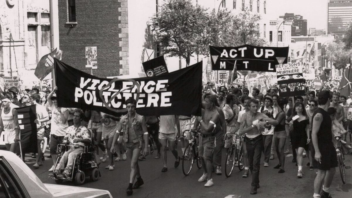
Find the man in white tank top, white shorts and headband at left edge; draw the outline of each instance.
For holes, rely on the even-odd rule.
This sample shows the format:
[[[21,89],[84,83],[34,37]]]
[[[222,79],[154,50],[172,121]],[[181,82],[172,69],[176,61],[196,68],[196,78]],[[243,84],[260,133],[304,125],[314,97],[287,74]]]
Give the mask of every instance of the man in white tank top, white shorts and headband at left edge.
[[[1,98],[2,110],[0,111],[0,137],[1,132],[4,131],[4,143],[6,149],[15,152],[16,144],[20,134],[20,126],[18,124],[17,110],[10,107],[10,96],[5,95]]]

